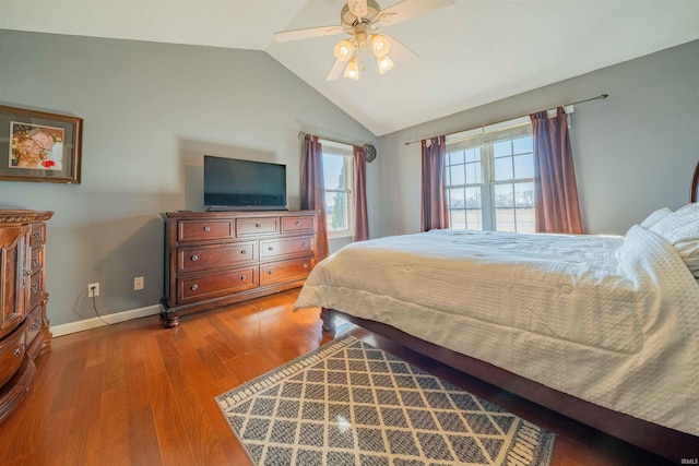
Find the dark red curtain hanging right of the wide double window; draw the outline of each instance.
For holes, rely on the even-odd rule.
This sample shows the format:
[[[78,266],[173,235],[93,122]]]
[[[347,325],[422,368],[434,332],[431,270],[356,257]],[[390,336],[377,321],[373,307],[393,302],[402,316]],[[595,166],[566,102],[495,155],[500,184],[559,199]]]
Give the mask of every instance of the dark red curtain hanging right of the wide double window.
[[[582,234],[568,116],[558,107],[530,115],[534,134],[534,208],[537,232]]]

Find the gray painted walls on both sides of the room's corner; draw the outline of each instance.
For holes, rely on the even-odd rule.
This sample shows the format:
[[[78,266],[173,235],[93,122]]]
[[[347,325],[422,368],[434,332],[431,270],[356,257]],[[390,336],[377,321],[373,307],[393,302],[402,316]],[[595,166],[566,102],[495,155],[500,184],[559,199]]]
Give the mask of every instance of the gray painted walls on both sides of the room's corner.
[[[286,164],[298,208],[299,129],[371,142],[369,234],[415,232],[419,144],[406,141],[607,93],[576,107],[571,138],[587,232],[624,234],[652,210],[687,202],[698,82],[695,41],[377,140],[263,52],[0,29],[0,104],[85,120],[82,183],[0,181],[0,208],[56,211],[48,312],[54,325],[70,323],[95,316],[92,282],[104,314],[158,302],[159,213],[202,207],[203,154]],[[133,291],[135,276],[144,290]]]

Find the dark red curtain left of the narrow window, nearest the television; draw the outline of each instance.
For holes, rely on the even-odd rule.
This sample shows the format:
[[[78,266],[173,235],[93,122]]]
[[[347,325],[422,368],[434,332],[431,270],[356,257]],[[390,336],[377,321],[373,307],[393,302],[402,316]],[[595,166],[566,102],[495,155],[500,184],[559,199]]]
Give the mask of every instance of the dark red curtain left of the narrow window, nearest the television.
[[[301,210],[320,211],[318,215],[317,259],[328,256],[328,225],[325,223],[325,202],[323,183],[323,147],[318,136],[306,134],[301,154]]]

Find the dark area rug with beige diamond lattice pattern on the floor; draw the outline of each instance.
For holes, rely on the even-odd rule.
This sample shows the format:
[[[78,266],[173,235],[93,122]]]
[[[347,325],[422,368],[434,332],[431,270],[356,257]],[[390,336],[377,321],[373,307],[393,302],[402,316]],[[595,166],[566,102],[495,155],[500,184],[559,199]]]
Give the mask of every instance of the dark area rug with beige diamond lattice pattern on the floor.
[[[253,465],[548,465],[555,439],[352,336],[216,403]]]

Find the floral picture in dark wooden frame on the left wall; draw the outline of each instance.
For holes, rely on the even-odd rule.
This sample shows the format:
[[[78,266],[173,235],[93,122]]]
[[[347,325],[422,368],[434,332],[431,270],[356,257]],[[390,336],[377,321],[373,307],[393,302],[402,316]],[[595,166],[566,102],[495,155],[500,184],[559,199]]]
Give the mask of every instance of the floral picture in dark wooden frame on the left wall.
[[[82,118],[0,105],[0,181],[80,183]]]

